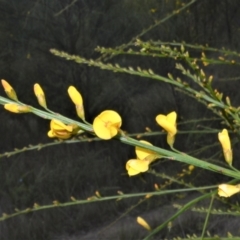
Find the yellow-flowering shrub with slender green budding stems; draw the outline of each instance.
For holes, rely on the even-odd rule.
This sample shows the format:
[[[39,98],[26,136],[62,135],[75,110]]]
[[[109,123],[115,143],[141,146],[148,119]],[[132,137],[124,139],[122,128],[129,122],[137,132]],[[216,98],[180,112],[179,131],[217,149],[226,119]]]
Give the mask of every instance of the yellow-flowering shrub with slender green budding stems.
[[[148,53],[151,55],[151,43],[144,43],[140,40],[137,40],[135,43],[136,47],[140,47],[140,51],[138,54],[142,54],[146,51],[146,49],[149,49]],[[100,49],[101,52],[107,51],[106,49]],[[111,50],[108,50],[111,51]],[[194,89],[192,87],[189,87],[189,85],[185,82],[183,82],[180,79],[175,80],[171,74],[169,74],[168,78],[161,77],[157,74],[155,74],[151,69],[149,70],[141,70],[137,69],[134,70],[133,68],[121,68],[119,66],[113,66],[111,64],[104,64],[99,61],[93,61],[93,60],[86,60],[84,58],[81,58],[79,56],[71,56],[67,53],[59,52],[57,50],[51,50],[51,52],[57,56],[67,58],[68,60],[74,60],[77,63],[83,63],[83,64],[89,64],[91,66],[96,66],[100,68],[104,68],[111,71],[116,72],[125,72],[129,74],[135,74],[141,77],[148,77],[152,79],[158,79],[162,80],[164,82],[167,82],[169,84],[175,85],[178,88],[185,91],[188,95],[195,97],[197,100],[204,102],[214,113],[218,114],[223,120],[225,121],[225,124],[229,127],[229,129],[233,130],[231,132],[238,132],[239,130],[239,109],[233,107],[231,105],[229,97],[226,97],[226,101],[223,101],[223,94],[219,93],[217,90],[213,91],[211,87],[211,82],[213,80],[212,76],[206,77],[205,73],[202,69],[197,65],[195,60],[192,60],[192,58],[189,57],[188,52],[184,50],[184,46],[181,46],[181,50],[175,50],[171,49],[170,47],[165,48],[161,47],[158,48],[158,51],[160,51],[164,56],[166,54],[171,54],[169,57],[173,58],[183,58],[187,59],[188,64],[190,64],[191,69],[194,69],[197,71],[198,75],[192,74],[190,71],[186,70],[182,65],[177,65],[177,69],[179,69],[182,74],[191,77],[197,83],[200,87],[203,88],[203,90],[206,90],[205,92],[199,91],[198,89]],[[131,54],[134,54],[134,51],[130,51]],[[206,58],[205,54],[202,54],[201,61],[203,65],[206,65],[209,61],[209,59]],[[168,193],[180,193],[185,191],[199,191],[202,195],[199,198],[194,199],[193,201],[190,201],[188,204],[186,204],[182,209],[180,209],[173,218],[181,215],[183,211],[186,211],[188,208],[192,207],[194,204],[196,204],[198,201],[201,201],[205,198],[209,198],[213,195],[218,194],[218,199],[221,200],[221,198],[228,198],[231,197],[234,194],[237,194],[240,192],[240,185],[235,184],[237,181],[240,180],[240,172],[236,168],[234,168],[233,165],[233,151],[231,146],[231,140],[228,134],[228,130],[224,128],[220,132],[218,132],[218,140],[220,142],[220,145],[222,146],[223,156],[228,164],[227,167],[219,166],[218,164],[207,162],[205,160],[201,160],[198,158],[195,158],[191,155],[188,155],[187,153],[183,153],[173,147],[175,143],[175,137],[179,133],[181,134],[181,131],[178,131],[177,127],[177,112],[172,111],[166,115],[160,113],[155,117],[155,120],[157,124],[164,129],[164,131],[167,134],[167,143],[168,148],[165,149],[160,146],[156,146],[151,144],[148,141],[145,140],[138,140],[133,138],[131,134],[125,132],[122,127],[122,117],[119,115],[118,112],[114,110],[104,110],[99,115],[97,115],[93,123],[89,122],[87,117],[85,117],[85,110],[84,110],[84,104],[83,104],[83,98],[81,93],[74,87],[69,86],[68,87],[68,95],[75,105],[77,116],[79,117],[79,121],[75,121],[73,119],[70,119],[66,116],[63,116],[61,114],[55,113],[52,110],[50,110],[47,107],[46,103],[46,97],[44,94],[44,91],[42,87],[36,83],[34,84],[34,93],[37,98],[37,101],[39,105],[44,110],[39,110],[37,108],[34,108],[30,105],[27,105],[25,103],[22,103],[13,89],[13,87],[6,81],[2,80],[2,86],[9,97],[9,99],[0,97],[0,103],[4,105],[4,108],[12,113],[33,113],[37,116],[40,116],[42,118],[48,119],[50,121],[50,130],[47,131],[47,136],[49,138],[57,138],[59,143],[64,141],[78,141],[81,138],[81,134],[87,133],[91,137],[89,137],[87,140],[92,141],[93,139],[97,140],[117,140],[124,144],[131,145],[135,148],[135,154],[136,157],[130,158],[129,160],[126,159],[125,163],[125,174],[129,177],[133,177],[136,175],[141,174],[153,174],[156,177],[162,177],[168,179],[168,181],[165,182],[165,184],[158,186],[157,184],[154,185],[155,191],[150,193],[133,193],[133,194],[124,194],[122,192],[118,192],[118,195],[116,196],[106,196],[103,197],[98,191],[96,191],[94,196],[91,196],[84,200],[77,200],[74,197],[71,197],[72,202],[67,202],[65,205],[59,203],[58,201],[53,201],[53,204],[50,206],[47,205],[47,208],[53,208],[56,206],[69,206],[73,204],[84,204],[89,201],[105,201],[110,199],[117,199],[121,200],[128,197],[136,197],[136,196],[143,196],[144,200],[151,198],[154,195],[163,195]],[[216,110],[217,109],[217,110]],[[223,111],[224,114],[221,112]],[[154,119],[152,119],[154,122]],[[151,131],[149,136],[151,136]],[[164,134],[165,132],[161,132],[160,134]],[[145,133],[144,133],[145,134]],[[143,134],[143,135],[144,135]],[[148,136],[148,135],[144,136]],[[141,138],[141,134],[139,138]],[[136,135],[136,136],[138,136]],[[217,139],[217,133],[216,133],[216,139]],[[42,146],[41,146],[42,147]],[[17,152],[18,150],[16,150]],[[18,151],[20,152],[20,151]],[[17,153],[18,153],[17,152]],[[9,154],[9,153],[8,153]],[[160,160],[159,160],[160,159]],[[178,173],[175,177],[169,177],[166,176],[164,173],[159,173],[156,171],[155,166],[164,159],[164,161],[172,161],[175,162],[179,161],[187,165],[187,170],[183,169],[182,172]],[[159,160],[159,161],[158,161]],[[224,161],[223,161],[224,162]],[[174,162],[173,162],[174,164]],[[201,168],[208,170],[209,172],[215,172],[219,173],[228,177],[233,178],[230,182],[225,183],[219,183],[215,186],[203,186],[203,187],[194,187],[191,183],[185,183],[183,178],[187,175],[191,175],[193,172],[193,169],[195,168]],[[172,183],[178,183],[180,185],[184,185],[186,188],[182,189],[171,189],[171,190],[165,190],[165,188],[172,184]],[[209,189],[213,191],[208,191]],[[39,211],[46,208],[45,206],[40,206],[39,204],[34,204],[33,208],[29,208],[28,211],[21,210],[18,211],[18,214],[23,214],[26,212],[31,211]],[[3,214],[2,218],[0,220],[5,220],[10,217],[14,217],[15,214]],[[158,231],[160,231],[163,226],[166,226],[167,224],[171,223],[171,219],[166,220],[162,225],[159,227],[152,229],[150,225],[142,218],[137,218],[137,223],[141,226],[143,226],[145,229],[147,229],[150,233],[148,236],[152,236],[156,234]]]

